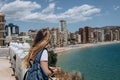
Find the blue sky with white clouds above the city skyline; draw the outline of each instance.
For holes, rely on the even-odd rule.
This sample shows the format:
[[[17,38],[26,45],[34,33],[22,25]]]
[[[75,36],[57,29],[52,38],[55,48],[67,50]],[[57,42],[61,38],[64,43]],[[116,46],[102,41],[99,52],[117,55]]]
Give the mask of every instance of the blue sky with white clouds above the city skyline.
[[[85,26],[120,26],[120,0],[0,0],[6,25],[19,26],[20,32],[60,27],[66,20],[69,32]]]

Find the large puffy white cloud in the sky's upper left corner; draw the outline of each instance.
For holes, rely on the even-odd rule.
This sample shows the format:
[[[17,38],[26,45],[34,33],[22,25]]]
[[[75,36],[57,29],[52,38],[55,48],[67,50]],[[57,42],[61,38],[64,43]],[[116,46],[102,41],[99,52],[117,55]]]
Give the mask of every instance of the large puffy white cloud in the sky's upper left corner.
[[[34,10],[40,8],[41,5],[36,2],[16,0],[14,2],[5,3],[0,11],[5,13],[6,17],[9,19],[21,20],[25,16],[32,14]]]

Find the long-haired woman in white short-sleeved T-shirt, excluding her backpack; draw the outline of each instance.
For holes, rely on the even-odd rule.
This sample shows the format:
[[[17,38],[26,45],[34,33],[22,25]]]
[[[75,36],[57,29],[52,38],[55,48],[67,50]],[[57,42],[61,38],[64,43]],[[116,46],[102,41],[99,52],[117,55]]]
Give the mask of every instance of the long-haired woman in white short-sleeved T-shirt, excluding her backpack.
[[[34,58],[37,55],[37,53],[43,48],[46,48],[46,46],[50,42],[50,39],[51,39],[51,35],[48,29],[42,29],[37,32],[32,47],[29,50],[29,54],[25,57],[24,62],[26,68],[29,67],[29,60],[34,61]],[[59,68],[57,67],[50,67],[50,68],[48,67],[48,51],[46,49],[43,50],[40,59],[40,65],[45,71],[45,73],[48,74],[48,76],[51,76],[53,73],[59,72]]]

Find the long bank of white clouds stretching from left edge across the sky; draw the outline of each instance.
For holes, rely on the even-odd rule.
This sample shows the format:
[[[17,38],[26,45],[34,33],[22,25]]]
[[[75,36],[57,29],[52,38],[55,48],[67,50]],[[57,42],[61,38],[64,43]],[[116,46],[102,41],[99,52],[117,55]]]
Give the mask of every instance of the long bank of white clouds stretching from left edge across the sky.
[[[55,11],[62,8],[56,6],[55,3],[50,3],[48,7],[41,10],[41,5],[31,1],[14,1],[6,3],[0,11],[6,14],[7,19],[21,21],[48,21],[58,22],[65,19],[68,22],[79,22],[92,19],[92,16],[100,13],[101,9],[88,4],[75,6],[61,13]],[[41,12],[40,12],[41,10]]]

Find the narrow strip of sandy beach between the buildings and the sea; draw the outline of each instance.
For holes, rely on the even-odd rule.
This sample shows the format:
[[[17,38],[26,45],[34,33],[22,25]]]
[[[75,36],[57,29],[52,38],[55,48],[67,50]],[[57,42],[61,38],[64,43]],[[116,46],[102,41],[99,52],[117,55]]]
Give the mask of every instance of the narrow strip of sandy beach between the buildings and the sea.
[[[65,51],[69,51],[69,50],[82,49],[82,48],[93,47],[93,46],[102,46],[102,45],[115,44],[115,43],[120,43],[120,41],[109,41],[109,42],[97,42],[97,43],[69,45],[67,47],[57,47],[54,49],[54,52],[59,55],[60,53],[65,52]]]

